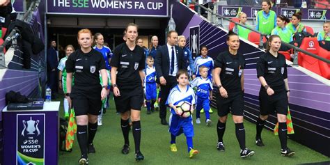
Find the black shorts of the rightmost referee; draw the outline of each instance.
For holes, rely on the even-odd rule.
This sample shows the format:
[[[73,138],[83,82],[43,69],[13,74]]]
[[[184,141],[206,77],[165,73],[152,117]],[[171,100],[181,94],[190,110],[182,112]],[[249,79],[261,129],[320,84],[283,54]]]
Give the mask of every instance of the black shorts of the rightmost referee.
[[[288,114],[288,95],[285,91],[269,96],[265,90],[259,92],[260,115]]]

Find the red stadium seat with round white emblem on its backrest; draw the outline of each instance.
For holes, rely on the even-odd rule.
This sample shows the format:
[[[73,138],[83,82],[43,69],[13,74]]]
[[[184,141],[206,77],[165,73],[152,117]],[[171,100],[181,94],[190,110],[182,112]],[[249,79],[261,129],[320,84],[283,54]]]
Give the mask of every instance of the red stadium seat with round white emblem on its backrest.
[[[320,47],[317,38],[304,38],[304,40],[302,40],[301,42],[300,49],[304,49],[307,52],[319,55],[320,49],[322,48]],[[322,76],[319,60],[317,58],[313,58],[312,56],[308,56],[304,53],[299,52],[298,64],[301,65],[301,67],[304,67]]]

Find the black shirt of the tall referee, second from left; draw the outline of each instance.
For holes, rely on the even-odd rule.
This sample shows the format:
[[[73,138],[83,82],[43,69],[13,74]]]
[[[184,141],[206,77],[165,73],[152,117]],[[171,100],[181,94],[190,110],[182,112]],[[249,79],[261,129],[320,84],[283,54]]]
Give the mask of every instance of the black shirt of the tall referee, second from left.
[[[136,45],[134,50],[127,47],[126,42],[118,45],[111,58],[111,67],[117,69],[116,84],[119,88],[136,88],[141,86],[140,70],[145,68],[146,56],[144,50]]]

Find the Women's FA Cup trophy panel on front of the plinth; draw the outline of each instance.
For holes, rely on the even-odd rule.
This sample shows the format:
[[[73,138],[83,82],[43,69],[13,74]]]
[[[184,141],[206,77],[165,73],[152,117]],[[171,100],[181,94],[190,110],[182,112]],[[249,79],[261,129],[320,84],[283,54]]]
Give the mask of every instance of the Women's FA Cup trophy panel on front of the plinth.
[[[17,164],[45,164],[45,114],[17,114]]]

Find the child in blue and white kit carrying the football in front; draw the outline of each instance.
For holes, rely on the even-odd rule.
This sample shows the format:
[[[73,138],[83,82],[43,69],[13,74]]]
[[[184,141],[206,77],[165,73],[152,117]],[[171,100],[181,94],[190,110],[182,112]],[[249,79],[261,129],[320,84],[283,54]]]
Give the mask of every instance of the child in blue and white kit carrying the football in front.
[[[185,101],[189,102],[191,105],[196,103],[196,97],[194,90],[188,85],[188,72],[186,70],[179,70],[176,74],[176,79],[178,85],[172,88],[166,105],[171,107],[171,116],[169,118],[169,129],[168,132],[171,132],[171,151],[177,152],[178,149],[175,146],[176,136],[184,133],[187,139],[187,146],[189,152],[189,158],[194,157],[198,154],[198,150],[193,149],[192,137],[194,136],[194,127],[192,124],[192,117],[183,118],[179,116],[179,111],[177,106],[180,102]],[[193,111],[194,106],[191,106],[191,111]]]

